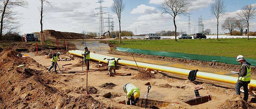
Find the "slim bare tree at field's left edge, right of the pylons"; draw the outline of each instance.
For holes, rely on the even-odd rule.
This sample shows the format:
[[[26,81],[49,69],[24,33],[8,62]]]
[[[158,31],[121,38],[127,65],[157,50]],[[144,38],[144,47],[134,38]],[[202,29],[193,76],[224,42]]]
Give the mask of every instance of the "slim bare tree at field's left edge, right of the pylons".
[[[123,0],[113,0],[113,4],[111,5],[111,11],[113,13],[116,13],[118,21],[119,21],[119,43],[121,42],[121,13],[124,11],[125,8],[125,3],[123,2]]]

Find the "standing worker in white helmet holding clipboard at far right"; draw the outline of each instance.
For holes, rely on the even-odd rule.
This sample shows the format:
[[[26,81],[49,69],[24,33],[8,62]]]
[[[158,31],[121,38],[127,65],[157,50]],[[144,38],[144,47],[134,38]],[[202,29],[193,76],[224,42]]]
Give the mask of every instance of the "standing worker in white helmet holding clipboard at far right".
[[[240,95],[240,88],[243,87],[244,89],[244,100],[248,100],[248,84],[251,81],[251,64],[248,63],[242,55],[238,55],[236,58],[236,61],[238,61],[241,64],[241,68],[239,69],[238,73],[238,80],[235,85],[235,91],[236,94]]]

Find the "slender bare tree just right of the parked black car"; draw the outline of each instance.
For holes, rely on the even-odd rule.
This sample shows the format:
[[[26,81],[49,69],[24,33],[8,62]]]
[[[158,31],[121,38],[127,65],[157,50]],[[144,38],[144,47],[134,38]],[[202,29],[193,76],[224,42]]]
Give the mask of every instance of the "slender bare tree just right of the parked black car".
[[[217,40],[219,35],[219,17],[226,13],[226,5],[224,0],[215,0],[210,7],[210,12],[217,19]]]

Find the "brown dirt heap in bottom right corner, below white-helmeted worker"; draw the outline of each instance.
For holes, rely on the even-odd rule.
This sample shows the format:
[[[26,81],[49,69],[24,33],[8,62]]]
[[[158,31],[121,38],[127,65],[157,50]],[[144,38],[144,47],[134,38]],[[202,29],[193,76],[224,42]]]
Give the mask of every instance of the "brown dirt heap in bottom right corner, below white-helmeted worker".
[[[242,99],[240,95],[235,95],[233,98],[226,100],[219,108],[222,109],[255,109],[249,102]]]

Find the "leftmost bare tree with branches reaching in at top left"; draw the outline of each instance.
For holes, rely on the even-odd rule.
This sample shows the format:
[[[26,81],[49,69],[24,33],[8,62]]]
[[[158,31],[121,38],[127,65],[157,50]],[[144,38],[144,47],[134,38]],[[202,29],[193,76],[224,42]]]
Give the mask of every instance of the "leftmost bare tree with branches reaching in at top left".
[[[2,16],[1,16],[1,26],[0,26],[0,40],[2,40],[2,36],[3,36],[3,24],[8,22],[8,21],[4,21],[4,18],[6,18],[7,20],[11,21],[11,19],[13,16],[13,13],[11,13],[11,9],[14,6],[21,6],[21,7],[25,7],[27,5],[27,1],[26,0],[1,0],[3,2],[2,4]]]

